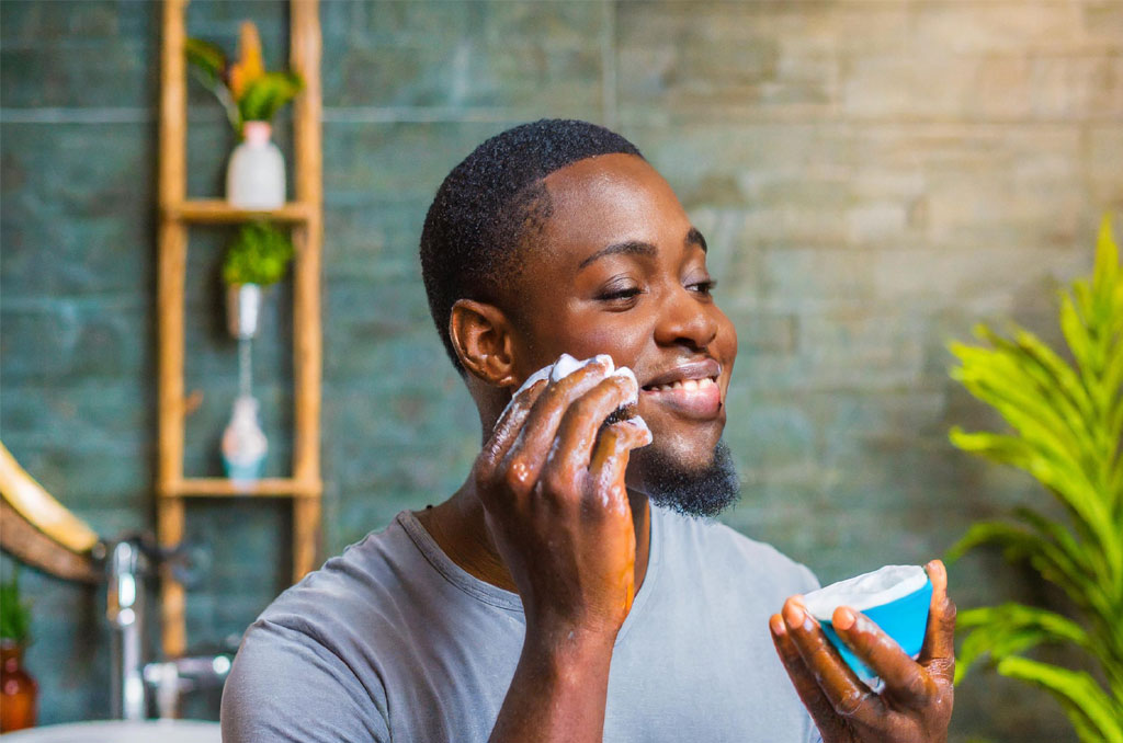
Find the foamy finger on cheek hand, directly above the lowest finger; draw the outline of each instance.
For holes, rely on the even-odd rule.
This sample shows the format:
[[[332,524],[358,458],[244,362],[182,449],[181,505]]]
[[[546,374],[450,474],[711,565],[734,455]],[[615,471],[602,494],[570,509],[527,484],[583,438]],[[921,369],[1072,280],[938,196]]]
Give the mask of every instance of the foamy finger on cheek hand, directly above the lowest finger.
[[[570,481],[578,471],[587,470],[604,419],[621,405],[634,403],[638,394],[636,377],[618,369],[582,395],[562,419],[547,469]]]

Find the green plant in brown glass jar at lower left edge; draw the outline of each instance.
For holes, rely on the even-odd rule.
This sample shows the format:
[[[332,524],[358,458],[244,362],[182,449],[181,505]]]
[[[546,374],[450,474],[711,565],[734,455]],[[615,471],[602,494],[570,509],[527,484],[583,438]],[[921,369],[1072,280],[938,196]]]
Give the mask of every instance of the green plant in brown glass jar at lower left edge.
[[[38,685],[24,669],[31,644],[31,608],[19,594],[19,572],[0,584],[0,733],[35,725]]]

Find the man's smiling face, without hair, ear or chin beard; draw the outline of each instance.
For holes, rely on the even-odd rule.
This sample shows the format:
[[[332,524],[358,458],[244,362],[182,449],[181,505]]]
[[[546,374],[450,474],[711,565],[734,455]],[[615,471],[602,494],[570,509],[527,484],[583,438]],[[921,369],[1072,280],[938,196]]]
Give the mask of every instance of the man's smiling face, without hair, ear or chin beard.
[[[608,354],[636,373],[655,439],[634,453],[629,485],[645,489],[656,466],[705,470],[725,425],[737,332],[710,295],[702,236],[631,155],[581,160],[545,184],[553,213],[519,283],[518,380],[562,352]]]

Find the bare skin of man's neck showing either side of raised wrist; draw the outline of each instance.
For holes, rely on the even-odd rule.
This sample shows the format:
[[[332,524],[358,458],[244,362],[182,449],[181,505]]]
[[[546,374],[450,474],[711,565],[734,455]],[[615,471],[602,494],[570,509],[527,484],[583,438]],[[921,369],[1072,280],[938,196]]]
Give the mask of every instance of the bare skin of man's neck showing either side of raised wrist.
[[[628,492],[636,530],[636,590],[647,575],[651,549],[651,506],[647,496]],[[469,478],[447,501],[417,512],[418,521],[437,545],[468,575],[504,590],[519,593],[511,571],[487,530],[484,508]]]

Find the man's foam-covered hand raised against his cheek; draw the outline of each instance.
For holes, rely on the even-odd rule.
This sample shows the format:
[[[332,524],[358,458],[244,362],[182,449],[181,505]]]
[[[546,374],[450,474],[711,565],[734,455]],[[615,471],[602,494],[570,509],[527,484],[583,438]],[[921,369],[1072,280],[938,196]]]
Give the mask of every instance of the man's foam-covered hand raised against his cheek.
[[[615,635],[634,596],[636,535],[624,488],[645,426],[604,419],[636,380],[597,357],[523,389],[475,467],[476,493],[527,613],[529,632]],[[600,435],[597,433],[600,432]]]

